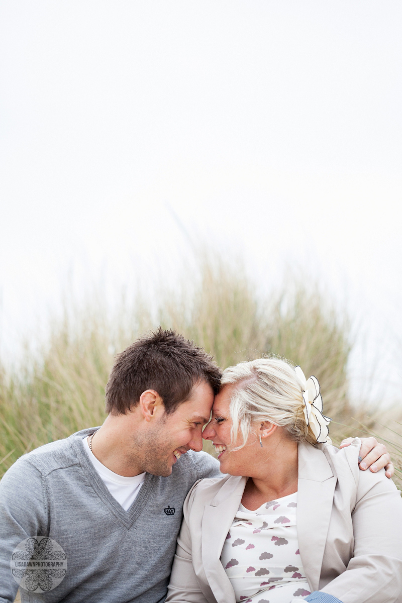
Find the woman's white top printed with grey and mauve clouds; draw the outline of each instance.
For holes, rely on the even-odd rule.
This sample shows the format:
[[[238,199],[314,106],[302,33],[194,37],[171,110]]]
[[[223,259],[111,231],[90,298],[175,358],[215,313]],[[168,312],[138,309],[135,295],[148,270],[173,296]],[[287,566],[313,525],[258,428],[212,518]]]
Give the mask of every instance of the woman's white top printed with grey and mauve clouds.
[[[289,603],[310,595],[296,529],[297,492],[256,511],[240,504],[222,549],[237,603]]]

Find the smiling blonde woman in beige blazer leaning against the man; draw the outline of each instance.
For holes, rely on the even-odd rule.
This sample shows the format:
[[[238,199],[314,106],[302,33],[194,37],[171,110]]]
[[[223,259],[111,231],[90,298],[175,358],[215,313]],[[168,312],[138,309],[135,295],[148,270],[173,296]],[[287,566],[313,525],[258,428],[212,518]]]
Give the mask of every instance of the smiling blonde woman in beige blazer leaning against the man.
[[[227,368],[204,438],[223,479],[193,486],[166,603],[402,601],[402,501],[338,450],[315,377],[263,358]]]

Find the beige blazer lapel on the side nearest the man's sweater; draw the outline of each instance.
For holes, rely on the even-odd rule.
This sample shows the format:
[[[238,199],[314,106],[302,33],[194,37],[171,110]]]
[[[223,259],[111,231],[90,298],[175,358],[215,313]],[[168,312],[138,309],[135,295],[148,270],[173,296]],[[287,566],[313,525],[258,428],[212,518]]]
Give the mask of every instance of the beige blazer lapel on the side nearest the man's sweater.
[[[207,582],[218,603],[236,603],[233,588],[220,561],[222,547],[236,516],[247,478],[233,477],[204,509],[201,555]]]

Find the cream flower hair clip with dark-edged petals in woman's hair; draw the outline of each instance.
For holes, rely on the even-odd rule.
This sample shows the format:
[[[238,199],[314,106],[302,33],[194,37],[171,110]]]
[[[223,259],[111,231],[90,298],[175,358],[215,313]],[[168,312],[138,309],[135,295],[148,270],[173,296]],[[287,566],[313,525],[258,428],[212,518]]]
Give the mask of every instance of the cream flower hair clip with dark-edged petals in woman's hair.
[[[313,375],[306,379],[300,367],[295,367],[295,373],[303,391],[303,411],[306,423],[312,429],[318,443],[325,444],[325,442],[331,441],[328,425],[332,419],[322,414],[322,397],[319,393],[318,379]]]

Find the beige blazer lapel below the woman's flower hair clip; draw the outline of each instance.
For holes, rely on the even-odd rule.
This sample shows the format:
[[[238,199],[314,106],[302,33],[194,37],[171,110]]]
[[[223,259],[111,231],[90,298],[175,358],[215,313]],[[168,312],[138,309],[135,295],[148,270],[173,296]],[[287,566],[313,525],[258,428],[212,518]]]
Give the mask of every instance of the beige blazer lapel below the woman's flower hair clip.
[[[324,452],[309,444],[298,447],[297,535],[301,562],[312,590],[319,590],[337,479]]]

